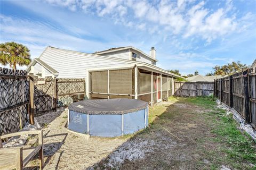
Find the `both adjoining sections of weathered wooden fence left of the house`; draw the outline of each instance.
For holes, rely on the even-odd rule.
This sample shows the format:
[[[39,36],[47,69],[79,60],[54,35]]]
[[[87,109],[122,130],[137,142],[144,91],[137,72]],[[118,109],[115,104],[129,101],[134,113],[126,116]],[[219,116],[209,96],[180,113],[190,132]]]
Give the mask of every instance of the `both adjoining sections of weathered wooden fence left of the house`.
[[[0,135],[17,132],[34,115],[73,103],[85,94],[85,79],[33,79],[23,70],[0,67]],[[30,116],[30,118],[29,118]]]

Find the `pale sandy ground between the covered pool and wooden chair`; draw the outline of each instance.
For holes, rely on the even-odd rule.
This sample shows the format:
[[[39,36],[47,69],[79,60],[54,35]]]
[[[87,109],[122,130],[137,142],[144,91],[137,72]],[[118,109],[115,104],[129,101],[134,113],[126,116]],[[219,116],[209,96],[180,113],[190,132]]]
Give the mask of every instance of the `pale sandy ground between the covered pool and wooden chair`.
[[[44,133],[44,169],[84,169],[107,157],[126,138],[87,138],[65,128],[67,111],[36,117]],[[30,165],[31,166],[31,165]],[[37,169],[34,167],[32,169]]]

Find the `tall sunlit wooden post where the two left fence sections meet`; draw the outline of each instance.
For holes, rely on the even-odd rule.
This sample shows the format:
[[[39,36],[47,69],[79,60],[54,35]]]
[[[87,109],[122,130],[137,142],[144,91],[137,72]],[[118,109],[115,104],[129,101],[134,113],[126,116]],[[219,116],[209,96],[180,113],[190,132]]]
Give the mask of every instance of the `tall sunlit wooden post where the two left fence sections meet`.
[[[29,76],[29,123],[34,124],[34,79]]]

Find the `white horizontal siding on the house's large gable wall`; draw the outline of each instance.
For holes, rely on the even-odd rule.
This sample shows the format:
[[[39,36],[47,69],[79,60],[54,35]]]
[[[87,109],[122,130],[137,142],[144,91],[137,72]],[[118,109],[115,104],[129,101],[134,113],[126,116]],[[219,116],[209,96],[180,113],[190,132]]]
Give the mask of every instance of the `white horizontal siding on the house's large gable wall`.
[[[86,78],[86,69],[127,65],[124,62],[48,47],[40,60],[59,72],[58,78]]]

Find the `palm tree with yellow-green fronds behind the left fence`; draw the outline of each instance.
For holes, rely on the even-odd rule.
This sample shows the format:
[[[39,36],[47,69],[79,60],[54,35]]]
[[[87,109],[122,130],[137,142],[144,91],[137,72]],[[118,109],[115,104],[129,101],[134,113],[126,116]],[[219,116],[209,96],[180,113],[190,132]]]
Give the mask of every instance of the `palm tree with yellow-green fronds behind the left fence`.
[[[16,70],[16,65],[29,65],[31,62],[28,47],[15,42],[6,42],[0,44],[0,63],[9,64]]]

